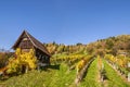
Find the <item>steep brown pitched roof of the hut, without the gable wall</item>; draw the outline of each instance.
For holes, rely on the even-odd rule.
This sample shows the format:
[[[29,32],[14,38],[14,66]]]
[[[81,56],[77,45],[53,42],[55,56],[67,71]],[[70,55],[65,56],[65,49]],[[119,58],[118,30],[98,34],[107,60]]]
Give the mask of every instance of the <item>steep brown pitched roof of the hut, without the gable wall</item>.
[[[14,50],[17,48],[20,41],[22,40],[22,37],[26,35],[29,40],[31,41],[32,46],[39,50],[41,50],[42,52],[44,52],[48,55],[51,55],[49,53],[49,51],[47,50],[47,48],[43,46],[43,44],[41,44],[39,40],[37,40],[35,37],[32,37],[29,33],[27,33],[26,30],[24,30],[22,33],[22,35],[18,37],[18,39],[16,40],[16,42],[14,44],[14,46],[12,47]]]

